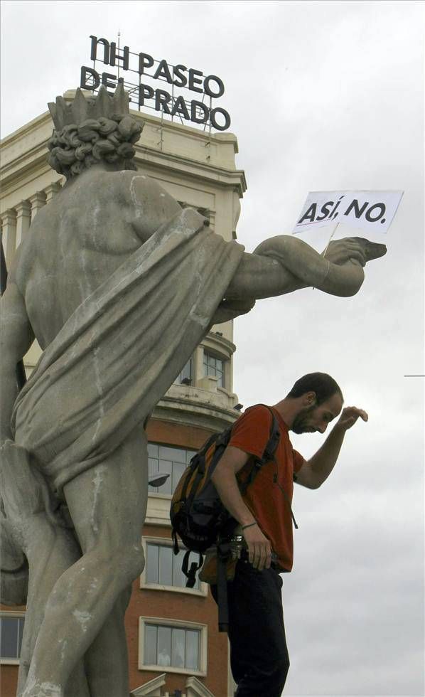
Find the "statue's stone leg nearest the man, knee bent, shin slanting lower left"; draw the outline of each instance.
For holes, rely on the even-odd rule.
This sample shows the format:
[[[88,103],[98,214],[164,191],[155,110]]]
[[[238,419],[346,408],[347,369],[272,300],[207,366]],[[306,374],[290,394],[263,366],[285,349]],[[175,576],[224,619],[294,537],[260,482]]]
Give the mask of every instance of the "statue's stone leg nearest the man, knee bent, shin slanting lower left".
[[[23,697],[63,697],[70,672],[143,570],[147,476],[146,437],[139,427],[102,464],[66,484],[65,499],[83,554],[50,594]],[[124,633],[119,641],[124,644]],[[105,662],[117,669],[119,656],[123,659],[124,651],[105,656]],[[114,675],[116,683],[102,697],[128,697],[127,668]],[[90,683],[90,674],[88,678]]]

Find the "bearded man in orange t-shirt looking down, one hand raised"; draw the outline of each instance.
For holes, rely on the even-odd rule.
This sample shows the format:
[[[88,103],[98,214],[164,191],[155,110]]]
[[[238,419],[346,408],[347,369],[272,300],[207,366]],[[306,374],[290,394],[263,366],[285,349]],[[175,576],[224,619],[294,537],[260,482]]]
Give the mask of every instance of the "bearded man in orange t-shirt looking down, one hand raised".
[[[274,457],[264,462],[245,487],[252,458],[261,458],[269,441],[273,415],[279,429]],[[324,433],[338,416],[328,438],[308,461],[294,450],[289,431]],[[289,655],[280,574],[290,572],[293,563],[293,482],[318,489],[335,467],[345,433],[359,417],[367,421],[364,410],[343,409],[343,393],[333,378],[308,373],[283,400],[272,407],[247,409],[232,427],[229,444],[211,479],[222,504],[239,523],[234,534],[244,538],[241,558],[227,583],[235,697],[281,697]],[[212,585],[212,595],[218,600],[217,585]]]

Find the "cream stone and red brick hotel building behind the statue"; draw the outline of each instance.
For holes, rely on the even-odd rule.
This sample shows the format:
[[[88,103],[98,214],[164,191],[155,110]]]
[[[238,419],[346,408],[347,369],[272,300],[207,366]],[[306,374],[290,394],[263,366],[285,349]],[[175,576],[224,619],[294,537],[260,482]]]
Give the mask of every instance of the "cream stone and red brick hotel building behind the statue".
[[[74,92],[65,92],[72,100]],[[236,238],[244,172],[235,167],[237,139],[211,134],[180,122],[131,112],[144,121],[136,144],[136,164],[181,205],[210,220],[226,240]],[[1,228],[9,266],[31,220],[48,205],[63,178],[47,164],[52,132],[48,112],[1,144]],[[147,427],[149,474],[168,474],[161,487],[149,487],[143,530],[146,566],[126,615],[130,693],[134,697],[227,697],[233,694],[228,642],[217,631],[217,611],[208,586],[185,588],[181,556],[173,555],[168,511],[171,494],[193,452],[212,432],[238,415],[232,391],[232,322],[212,327],[181,374],[160,400]],[[27,374],[40,356],[33,344],[24,359]],[[16,693],[24,607],[0,607],[1,694]]]

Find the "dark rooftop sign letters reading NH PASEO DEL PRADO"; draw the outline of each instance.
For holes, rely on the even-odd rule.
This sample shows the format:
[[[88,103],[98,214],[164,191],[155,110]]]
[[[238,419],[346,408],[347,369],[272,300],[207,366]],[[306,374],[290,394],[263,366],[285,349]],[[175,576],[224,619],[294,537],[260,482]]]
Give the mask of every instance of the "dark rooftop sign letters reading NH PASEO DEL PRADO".
[[[133,53],[128,46],[122,49],[114,41],[90,36],[92,40],[90,60],[93,67],[82,65],[80,87],[95,91],[102,84],[114,90],[118,82],[124,83],[131,102],[147,107],[183,122],[203,124],[204,128],[226,131],[230,127],[230,115],[222,107],[215,107],[225,93],[225,85],[217,75],[204,75],[201,70],[183,64],[171,65],[165,58],[156,60],[149,53]],[[96,62],[115,68],[115,72],[102,70]],[[167,83],[166,89],[160,85]],[[165,86],[165,85],[164,85]],[[188,92],[193,92],[188,95]]]

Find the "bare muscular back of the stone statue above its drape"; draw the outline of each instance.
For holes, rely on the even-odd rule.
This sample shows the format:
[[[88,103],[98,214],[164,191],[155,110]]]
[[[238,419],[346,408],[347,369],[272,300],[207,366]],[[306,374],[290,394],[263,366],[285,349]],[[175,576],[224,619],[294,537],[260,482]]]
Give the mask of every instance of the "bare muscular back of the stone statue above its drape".
[[[128,175],[87,171],[38,213],[28,231],[16,282],[43,349],[72,312],[144,241],[132,224]]]

